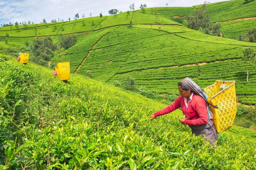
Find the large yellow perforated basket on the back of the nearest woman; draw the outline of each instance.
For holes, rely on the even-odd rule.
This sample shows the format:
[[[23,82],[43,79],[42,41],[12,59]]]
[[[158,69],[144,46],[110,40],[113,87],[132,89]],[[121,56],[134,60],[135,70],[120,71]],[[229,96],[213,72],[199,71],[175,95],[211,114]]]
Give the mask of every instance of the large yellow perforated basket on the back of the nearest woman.
[[[219,91],[223,83],[227,87]],[[216,109],[210,106],[216,131],[219,133],[231,128],[237,113],[235,81],[216,80],[204,90],[209,96],[210,103],[218,107]]]

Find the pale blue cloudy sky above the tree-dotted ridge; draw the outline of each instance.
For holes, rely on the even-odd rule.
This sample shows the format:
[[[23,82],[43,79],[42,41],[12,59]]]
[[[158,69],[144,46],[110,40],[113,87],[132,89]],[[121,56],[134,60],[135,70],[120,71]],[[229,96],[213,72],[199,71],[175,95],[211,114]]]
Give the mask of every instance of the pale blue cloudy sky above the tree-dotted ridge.
[[[109,15],[108,11],[117,9],[126,12],[131,4],[135,10],[140,9],[140,4],[147,8],[154,7],[192,7],[204,2],[214,3],[228,0],[0,0],[0,26],[4,23],[47,23],[52,20],[74,20],[75,14],[79,18]],[[92,14],[90,16],[90,13]]]

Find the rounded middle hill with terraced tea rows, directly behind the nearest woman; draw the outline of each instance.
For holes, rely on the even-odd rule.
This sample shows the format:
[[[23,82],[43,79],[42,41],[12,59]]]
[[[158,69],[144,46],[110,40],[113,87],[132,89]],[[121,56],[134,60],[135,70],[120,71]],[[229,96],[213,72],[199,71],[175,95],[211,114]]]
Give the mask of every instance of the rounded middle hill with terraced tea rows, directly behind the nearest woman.
[[[77,63],[70,60],[72,66],[75,65],[73,72],[86,57],[78,74],[84,75],[91,70],[95,79],[108,83],[123,81],[128,76],[134,78],[138,86],[168,94],[178,94],[177,83],[184,77],[198,79],[202,87],[219,79],[235,80],[237,94],[241,95],[239,100],[255,104],[251,98],[256,96],[251,94],[256,93],[243,86],[256,85],[256,72],[250,67],[250,81],[246,82],[246,64],[241,60],[243,49],[248,46],[255,49],[254,43],[212,37],[183,26],[161,26],[159,29],[159,26],[135,25],[111,28],[108,32],[106,29],[97,35],[97,39],[101,38],[97,42],[90,41],[94,34],[88,34],[87,40],[80,42],[79,46],[86,47],[84,43],[89,42],[91,45],[87,50],[81,48],[83,56],[79,61],[76,57]],[[79,46],[70,50],[78,52]]]

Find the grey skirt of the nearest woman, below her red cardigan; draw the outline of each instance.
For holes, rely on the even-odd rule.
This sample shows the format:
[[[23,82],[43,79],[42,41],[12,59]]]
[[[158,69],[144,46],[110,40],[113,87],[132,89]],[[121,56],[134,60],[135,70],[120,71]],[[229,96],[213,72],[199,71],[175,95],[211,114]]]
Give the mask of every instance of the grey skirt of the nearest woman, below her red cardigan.
[[[195,134],[196,136],[201,135],[202,137],[205,137],[205,141],[208,140],[212,144],[212,146],[218,146],[217,132],[212,119],[209,119],[208,123],[204,125],[192,125],[190,126],[190,128],[192,133]]]

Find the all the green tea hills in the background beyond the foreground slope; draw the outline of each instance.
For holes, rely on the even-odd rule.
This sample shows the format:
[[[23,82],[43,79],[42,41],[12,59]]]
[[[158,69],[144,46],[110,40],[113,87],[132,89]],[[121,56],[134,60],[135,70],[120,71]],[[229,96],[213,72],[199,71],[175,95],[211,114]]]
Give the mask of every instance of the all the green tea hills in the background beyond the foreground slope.
[[[159,94],[178,95],[177,82],[184,77],[193,78],[203,88],[215,80],[234,80],[238,101],[255,105],[255,65],[249,66],[246,82],[246,62],[241,58],[245,47],[256,51],[256,44],[234,39],[255,26],[256,1],[206,5],[211,22],[223,24],[222,33],[228,38],[182,26],[184,16],[194,15],[201,7],[146,8],[144,12],[29,24],[26,28],[1,27],[0,51],[29,51],[34,39],[50,36],[58,44],[60,35],[76,35],[77,43],[60,58],[54,57],[53,65],[69,61],[72,73],[85,75],[89,70],[94,79],[109,84],[129,77],[137,87]],[[26,43],[28,47],[24,47]]]

